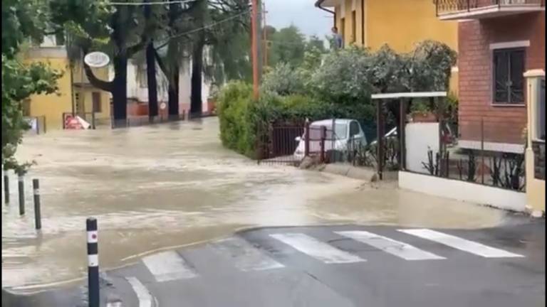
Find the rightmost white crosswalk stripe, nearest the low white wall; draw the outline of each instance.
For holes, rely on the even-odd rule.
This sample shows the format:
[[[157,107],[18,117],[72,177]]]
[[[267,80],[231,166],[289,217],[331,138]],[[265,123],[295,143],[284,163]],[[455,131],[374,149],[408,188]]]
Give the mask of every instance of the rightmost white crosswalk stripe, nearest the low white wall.
[[[481,243],[469,241],[467,239],[462,239],[453,235],[447,235],[442,232],[437,232],[434,230],[428,229],[410,229],[410,230],[398,230],[400,232],[405,232],[408,235],[414,235],[416,237],[421,237],[423,239],[428,239],[433,242],[447,245],[448,247],[453,247],[455,249],[462,250],[464,252],[469,252],[471,254],[476,254],[485,258],[507,258],[507,257],[524,257],[521,254],[514,254],[512,252],[506,252],[503,249],[496,249],[494,247],[489,247]]]

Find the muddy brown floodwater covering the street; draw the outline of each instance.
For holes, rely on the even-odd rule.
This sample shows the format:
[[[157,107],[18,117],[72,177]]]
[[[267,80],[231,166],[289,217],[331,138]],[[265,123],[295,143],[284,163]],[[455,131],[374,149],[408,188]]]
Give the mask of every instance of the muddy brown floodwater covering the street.
[[[259,166],[223,149],[218,120],[28,136],[35,160],[19,217],[16,178],[2,208],[2,286],[34,291],[85,276],[85,219],[99,225],[101,269],[246,227],[358,223],[491,227],[506,213],[350,178]],[[31,178],[41,184],[33,229]]]

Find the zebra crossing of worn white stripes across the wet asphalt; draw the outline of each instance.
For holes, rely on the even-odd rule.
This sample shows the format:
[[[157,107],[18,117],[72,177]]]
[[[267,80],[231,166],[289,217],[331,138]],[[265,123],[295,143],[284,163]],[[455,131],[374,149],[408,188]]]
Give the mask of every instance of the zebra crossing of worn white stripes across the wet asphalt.
[[[211,259],[226,262],[229,267],[243,274],[287,269],[291,266],[291,262],[285,262],[283,255],[289,257],[294,254],[300,255],[299,257],[308,257],[310,261],[328,266],[374,265],[373,262],[379,261],[379,258],[370,255],[371,252],[390,254],[394,259],[391,261],[402,262],[446,262],[462,253],[477,257],[477,259],[525,257],[522,254],[437,230],[396,229],[391,230],[391,233],[397,239],[388,237],[389,235],[385,235],[384,232],[379,235],[373,231],[365,230],[328,230],[326,236],[328,239],[325,239],[325,232],[319,236],[303,230],[283,229],[277,232],[271,230],[256,240],[252,237],[249,239],[245,236],[234,236],[209,243],[207,249],[212,252]],[[323,239],[319,239],[319,237]],[[335,244],[335,241],[346,241],[345,243],[353,244],[352,246],[363,246],[363,248],[357,248],[357,251],[348,250],[340,247],[340,244]],[[412,242],[412,244],[405,241]],[[275,250],[265,247],[269,244]],[[449,249],[449,251],[443,248]],[[153,276],[153,279],[150,277],[148,279],[154,284],[199,279],[207,276],[207,273],[200,274],[200,269],[209,270],[209,268],[203,267],[203,262],[201,264],[193,263],[192,257],[188,258],[182,251],[152,254],[142,258],[140,264],[144,266],[144,271]],[[154,296],[147,289],[150,282],[143,283],[142,280],[146,279],[141,278],[144,277],[126,276],[125,280],[135,292],[140,307],[156,306]]]

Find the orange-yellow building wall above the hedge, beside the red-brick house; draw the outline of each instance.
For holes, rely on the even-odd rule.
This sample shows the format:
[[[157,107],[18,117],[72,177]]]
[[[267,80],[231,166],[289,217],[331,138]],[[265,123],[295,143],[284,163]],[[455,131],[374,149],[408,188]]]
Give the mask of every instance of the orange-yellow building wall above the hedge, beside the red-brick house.
[[[345,3],[345,5],[341,5]],[[453,50],[458,50],[457,21],[440,21],[435,14],[432,0],[365,0],[365,39],[363,18],[361,17],[361,0],[355,0],[356,43],[371,50],[377,50],[387,44],[399,52],[410,52],[416,43],[434,40],[446,43]],[[346,46],[351,45],[353,0],[340,0],[335,6],[336,26],[344,34]],[[342,14],[345,11],[345,14]],[[345,16],[345,26],[342,17]],[[452,72],[450,91],[457,94],[458,72]]]

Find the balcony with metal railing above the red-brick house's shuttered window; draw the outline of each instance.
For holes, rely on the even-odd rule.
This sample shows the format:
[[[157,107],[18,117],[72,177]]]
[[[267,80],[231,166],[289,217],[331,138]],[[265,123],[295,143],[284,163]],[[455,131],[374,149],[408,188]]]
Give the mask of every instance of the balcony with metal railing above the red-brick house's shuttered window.
[[[434,0],[441,20],[480,19],[545,11],[546,0]]]

